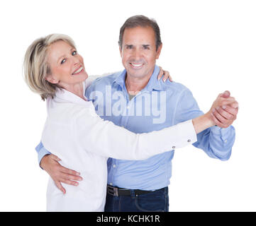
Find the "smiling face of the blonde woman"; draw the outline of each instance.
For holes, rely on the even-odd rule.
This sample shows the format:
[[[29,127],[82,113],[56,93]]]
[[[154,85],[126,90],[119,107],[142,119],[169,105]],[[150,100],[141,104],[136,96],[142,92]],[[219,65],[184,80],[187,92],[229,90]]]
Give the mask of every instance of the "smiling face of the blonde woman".
[[[83,58],[67,42],[57,41],[50,45],[48,64],[52,73],[46,79],[62,88],[82,83],[88,78]]]

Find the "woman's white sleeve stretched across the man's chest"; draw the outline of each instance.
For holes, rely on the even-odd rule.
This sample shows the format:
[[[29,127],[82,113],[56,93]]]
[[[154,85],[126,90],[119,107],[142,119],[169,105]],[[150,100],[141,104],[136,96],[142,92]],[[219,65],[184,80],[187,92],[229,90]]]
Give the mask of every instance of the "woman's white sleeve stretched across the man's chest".
[[[150,133],[132,133],[104,121],[92,105],[90,113],[83,109],[74,120],[74,139],[80,148],[105,157],[121,160],[144,160],[152,155],[182,148],[196,142],[192,121]]]

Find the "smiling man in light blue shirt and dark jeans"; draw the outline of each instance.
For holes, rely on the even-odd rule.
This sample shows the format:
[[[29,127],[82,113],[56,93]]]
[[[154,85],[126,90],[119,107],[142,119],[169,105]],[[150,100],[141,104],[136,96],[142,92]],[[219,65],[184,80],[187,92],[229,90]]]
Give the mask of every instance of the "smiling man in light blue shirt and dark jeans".
[[[203,114],[184,85],[157,80],[159,67],[155,63],[160,57],[162,42],[155,20],[145,16],[128,18],[120,30],[119,49],[125,70],[97,79],[86,92],[103,119],[135,133],[145,133]],[[236,101],[215,109],[212,116],[217,126],[199,133],[193,145],[210,157],[228,160],[235,141],[235,129],[230,125],[237,113]],[[175,147],[172,148],[143,161],[109,158],[105,210],[168,211],[168,185]],[[48,153],[42,145],[37,149],[39,160]],[[55,167],[59,165],[57,160],[56,156],[47,155],[40,163],[55,182],[60,183],[60,177],[69,184],[76,183],[70,180],[81,179],[71,169]],[[56,172],[61,176],[56,177]]]

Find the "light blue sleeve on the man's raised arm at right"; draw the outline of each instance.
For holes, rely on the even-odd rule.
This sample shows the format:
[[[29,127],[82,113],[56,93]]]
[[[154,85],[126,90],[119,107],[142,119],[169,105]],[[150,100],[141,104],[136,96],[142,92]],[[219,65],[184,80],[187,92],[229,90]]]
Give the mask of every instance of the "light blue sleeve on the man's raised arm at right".
[[[194,119],[202,114],[204,114],[204,112],[199,109],[191,91],[185,89],[177,103],[175,123]],[[234,142],[235,128],[233,126],[228,126],[226,129],[212,126],[197,134],[197,141],[193,143],[193,145],[196,148],[204,150],[209,157],[219,160],[228,160]]]

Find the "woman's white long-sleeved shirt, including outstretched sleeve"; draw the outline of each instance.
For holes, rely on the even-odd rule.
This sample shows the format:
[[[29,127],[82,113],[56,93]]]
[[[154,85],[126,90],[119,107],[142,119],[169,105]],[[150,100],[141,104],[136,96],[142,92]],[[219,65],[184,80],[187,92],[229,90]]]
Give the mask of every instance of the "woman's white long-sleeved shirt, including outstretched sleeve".
[[[43,145],[60,157],[61,165],[80,172],[83,178],[78,186],[62,184],[66,194],[50,178],[48,211],[104,211],[108,157],[143,160],[196,142],[191,120],[161,131],[136,134],[104,121],[92,102],[67,90],[57,90],[55,98],[48,98],[47,108]]]

